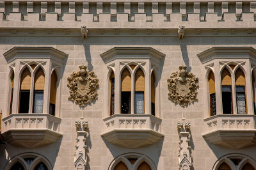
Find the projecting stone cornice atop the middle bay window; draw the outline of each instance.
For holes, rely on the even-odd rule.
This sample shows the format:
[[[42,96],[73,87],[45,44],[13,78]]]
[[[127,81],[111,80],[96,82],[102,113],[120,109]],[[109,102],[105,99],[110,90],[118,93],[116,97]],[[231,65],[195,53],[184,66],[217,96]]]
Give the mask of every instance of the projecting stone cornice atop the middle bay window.
[[[114,47],[100,54],[105,63],[109,63],[115,59],[157,59],[160,63],[165,54],[151,47]]]

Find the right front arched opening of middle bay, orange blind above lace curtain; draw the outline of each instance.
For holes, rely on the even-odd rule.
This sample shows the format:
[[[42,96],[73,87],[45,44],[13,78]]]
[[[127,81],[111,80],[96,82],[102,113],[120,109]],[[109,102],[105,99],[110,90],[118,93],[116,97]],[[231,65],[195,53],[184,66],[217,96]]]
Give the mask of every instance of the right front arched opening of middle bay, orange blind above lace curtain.
[[[143,114],[145,111],[145,75],[141,68],[135,74],[135,94],[134,94],[134,111],[135,114]]]

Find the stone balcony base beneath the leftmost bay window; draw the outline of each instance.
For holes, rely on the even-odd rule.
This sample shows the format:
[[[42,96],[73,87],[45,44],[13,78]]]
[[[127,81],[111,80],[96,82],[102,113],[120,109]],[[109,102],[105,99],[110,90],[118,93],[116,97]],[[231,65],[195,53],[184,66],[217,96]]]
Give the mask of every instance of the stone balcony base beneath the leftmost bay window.
[[[12,114],[3,119],[3,137],[7,143],[36,148],[57,141],[60,118],[49,114]]]

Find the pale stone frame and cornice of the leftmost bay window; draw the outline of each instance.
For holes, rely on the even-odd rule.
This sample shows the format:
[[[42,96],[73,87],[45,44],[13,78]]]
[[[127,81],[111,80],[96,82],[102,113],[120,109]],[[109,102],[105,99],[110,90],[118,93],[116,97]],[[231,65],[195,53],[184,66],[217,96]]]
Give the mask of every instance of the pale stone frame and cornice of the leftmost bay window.
[[[20,97],[20,75],[25,68],[28,68],[31,73],[31,88],[29,97],[29,111],[27,114],[33,113],[33,100],[34,100],[34,81],[35,73],[38,68],[42,68],[45,76],[44,84],[44,105],[42,114],[49,114],[49,102],[51,93],[51,73],[55,70],[57,75],[57,88],[56,88],[56,114],[55,116],[60,117],[60,98],[61,98],[61,80],[60,77],[63,73],[63,61],[68,55],[60,50],[56,50],[52,47],[13,47],[4,53],[4,58],[8,63],[8,81],[6,84],[6,100],[5,112],[3,117],[7,117],[10,114],[11,107],[11,76],[14,73],[13,83],[13,101],[12,101],[12,114],[19,113],[19,97]],[[31,65],[36,65],[35,68],[31,68]]]

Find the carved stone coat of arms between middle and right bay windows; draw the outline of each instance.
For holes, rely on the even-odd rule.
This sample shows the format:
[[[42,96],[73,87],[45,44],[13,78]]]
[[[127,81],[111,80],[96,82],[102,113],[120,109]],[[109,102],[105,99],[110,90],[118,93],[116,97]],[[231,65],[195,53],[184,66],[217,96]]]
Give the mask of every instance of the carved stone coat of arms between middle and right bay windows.
[[[171,73],[167,84],[168,98],[182,107],[197,100],[198,78],[193,73],[187,72],[187,66],[179,66],[179,72]]]

